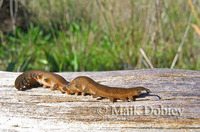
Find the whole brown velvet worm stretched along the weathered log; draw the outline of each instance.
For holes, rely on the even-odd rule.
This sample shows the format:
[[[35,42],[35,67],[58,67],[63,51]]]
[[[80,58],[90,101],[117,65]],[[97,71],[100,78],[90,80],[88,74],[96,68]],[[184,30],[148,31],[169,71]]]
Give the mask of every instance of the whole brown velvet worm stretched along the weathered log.
[[[30,70],[19,75],[15,80],[15,87],[18,90],[26,88],[38,87],[43,85],[44,88],[50,88],[51,90],[60,90],[62,93],[76,94],[81,93],[85,95],[89,93],[96,97],[108,98],[111,102],[116,99],[123,101],[133,101],[135,96],[141,94],[142,91],[150,93],[151,91],[144,87],[134,88],[119,88],[109,87],[99,84],[86,76],[79,76],[72,82],[66,81],[58,74],[46,72],[42,70]]]

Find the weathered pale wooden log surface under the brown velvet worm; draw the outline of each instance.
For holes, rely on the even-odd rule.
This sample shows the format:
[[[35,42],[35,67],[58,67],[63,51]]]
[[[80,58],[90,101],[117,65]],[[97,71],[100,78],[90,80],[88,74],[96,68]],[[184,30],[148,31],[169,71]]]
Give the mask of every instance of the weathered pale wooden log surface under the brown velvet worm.
[[[147,69],[58,73],[71,81],[88,76],[117,87],[143,86],[135,102],[75,96],[42,87],[14,88],[20,73],[0,71],[0,129],[116,131],[200,129],[200,71]]]

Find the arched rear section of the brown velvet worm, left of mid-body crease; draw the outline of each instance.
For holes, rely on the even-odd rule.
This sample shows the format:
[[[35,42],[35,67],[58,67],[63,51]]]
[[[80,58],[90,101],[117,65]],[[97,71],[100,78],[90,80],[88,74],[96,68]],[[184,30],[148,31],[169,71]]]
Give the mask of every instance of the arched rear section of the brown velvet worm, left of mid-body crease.
[[[15,80],[15,87],[18,90],[25,88],[32,88],[43,85],[44,88],[50,88],[51,90],[60,90],[62,93],[63,87],[66,87],[69,82],[62,76],[51,72],[42,70],[30,70],[19,75]]]

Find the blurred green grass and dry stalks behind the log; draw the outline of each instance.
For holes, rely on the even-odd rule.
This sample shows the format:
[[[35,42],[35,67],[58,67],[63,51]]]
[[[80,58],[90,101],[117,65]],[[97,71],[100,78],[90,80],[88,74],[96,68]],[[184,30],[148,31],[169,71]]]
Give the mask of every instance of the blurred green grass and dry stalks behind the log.
[[[0,70],[200,69],[199,0],[0,4]]]

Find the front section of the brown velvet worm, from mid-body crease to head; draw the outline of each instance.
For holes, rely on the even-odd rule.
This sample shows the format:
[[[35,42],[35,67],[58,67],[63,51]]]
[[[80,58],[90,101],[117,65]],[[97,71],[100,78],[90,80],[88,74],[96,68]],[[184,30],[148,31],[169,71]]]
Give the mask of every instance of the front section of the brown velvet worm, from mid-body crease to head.
[[[114,102],[115,99],[121,99],[123,101],[134,100],[135,96],[141,94],[141,91],[146,91],[150,93],[151,91],[144,87],[135,87],[135,88],[118,88],[118,87],[108,87],[101,85],[89,77],[79,76],[75,78],[72,82],[68,84],[67,87],[63,88],[63,91],[68,91],[70,94],[75,93],[78,95],[81,93],[85,95],[89,93],[96,97],[105,97],[108,98],[111,102]]]

